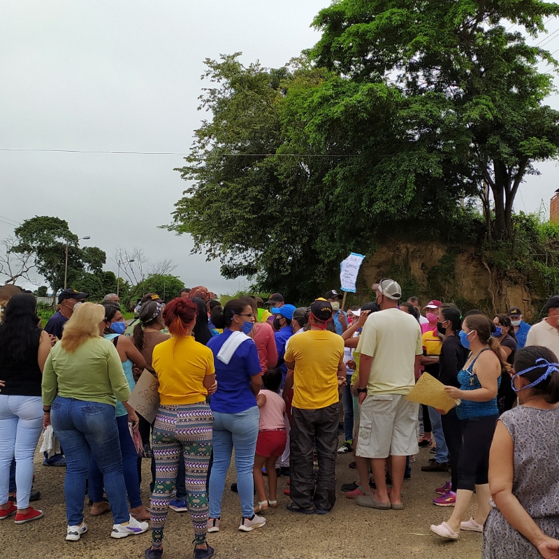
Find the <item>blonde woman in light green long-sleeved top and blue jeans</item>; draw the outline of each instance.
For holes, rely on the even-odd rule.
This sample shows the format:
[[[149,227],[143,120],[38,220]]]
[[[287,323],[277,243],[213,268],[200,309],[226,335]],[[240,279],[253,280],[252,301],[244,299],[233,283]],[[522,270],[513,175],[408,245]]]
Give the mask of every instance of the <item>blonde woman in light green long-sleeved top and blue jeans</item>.
[[[66,455],[66,539],[77,541],[87,532],[83,521],[83,497],[94,456],[103,474],[114,524],[111,537],[141,534],[147,522],[129,514],[122,456],[115,419],[117,400],[136,428],[138,416],[128,405],[130,389],[117,349],[103,339],[105,309],[83,303],[64,326],[64,337],[50,351],[43,372],[44,426],[52,422]]]

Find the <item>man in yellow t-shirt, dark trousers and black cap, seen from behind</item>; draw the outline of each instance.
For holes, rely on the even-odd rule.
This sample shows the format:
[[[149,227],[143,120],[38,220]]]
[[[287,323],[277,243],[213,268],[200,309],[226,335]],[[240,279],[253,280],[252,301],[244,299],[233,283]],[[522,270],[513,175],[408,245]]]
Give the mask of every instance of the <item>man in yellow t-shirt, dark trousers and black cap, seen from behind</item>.
[[[344,340],[327,331],[332,305],[317,299],[310,307],[310,330],[289,340],[284,400],[293,389],[290,433],[290,497],[287,508],[326,514],[336,501],[335,463],[340,415],[338,386],[345,380]],[[312,449],[317,445],[319,474],[314,484]]]

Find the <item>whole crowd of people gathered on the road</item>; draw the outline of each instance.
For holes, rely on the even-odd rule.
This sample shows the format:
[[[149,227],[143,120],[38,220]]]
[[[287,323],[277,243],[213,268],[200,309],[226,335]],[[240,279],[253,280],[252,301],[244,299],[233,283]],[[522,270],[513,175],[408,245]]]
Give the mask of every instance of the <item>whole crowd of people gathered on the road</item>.
[[[431,532],[450,540],[483,532],[487,559],[559,557],[559,296],[530,326],[519,307],[490,317],[431,300],[423,310],[390,278],[372,286],[374,301],[347,311],[335,290],[308,307],[280,293],[222,305],[197,286],[168,303],[148,293],[127,323],[115,293],[94,304],[65,289],[43,329],[34,296],[8,288],[0,288],[0,520],[44,514],[29,504],[40,497],[32,485],[41,434],[43,464],[66,467],[66,539],[87,532],[87,495],[91,516],[112,514],[111,537],[151,528],[147,559],[163,556],[168,509],[189,512],[194,557],[214,555],[207,535],[221,528],[233,456],[238,529],[250,532],[278,506],[278,474],[289,475],[290,512],[329,514],[337,454],[354,454],[356,481],[340,487],[347,498],[402,510],[410,463],[429,447],[421,470],[449,472],[433,504],[453,507]],[[128,402],[142,375],[157,380],[152,421]],[[458,405],[408,399],[421,375]]]

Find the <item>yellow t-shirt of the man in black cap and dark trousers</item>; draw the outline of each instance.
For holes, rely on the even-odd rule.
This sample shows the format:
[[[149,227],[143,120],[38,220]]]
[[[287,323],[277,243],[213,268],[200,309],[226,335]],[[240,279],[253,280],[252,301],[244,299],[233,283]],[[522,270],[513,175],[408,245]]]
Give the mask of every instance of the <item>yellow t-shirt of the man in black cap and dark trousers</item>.
[[[293,407],[320,409],[340,401],[337,366],[344,359],[342,336],[319,330],[291,336],[284,359],[295,363]]]

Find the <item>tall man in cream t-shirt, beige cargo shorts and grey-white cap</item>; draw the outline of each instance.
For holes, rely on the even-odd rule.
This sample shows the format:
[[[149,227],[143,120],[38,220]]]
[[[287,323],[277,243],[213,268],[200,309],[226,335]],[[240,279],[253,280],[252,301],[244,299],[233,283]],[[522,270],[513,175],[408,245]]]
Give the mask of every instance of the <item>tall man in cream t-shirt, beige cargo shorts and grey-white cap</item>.
[[[361,354],[357,392],[360,407],[356,455],[370,458],[376,490],[358,497],[362,507],[402,509],[406,457],[419,451],[418,405],[406,400],[419,373],[421,328],[411,314],[398,309],[402,296],[393,279],[372,286],[380,312],[372,312],[359,338]],[[418,375],[419,376],[419,375]],[[386,491],[386,458],[391,457],[392,491]]]

